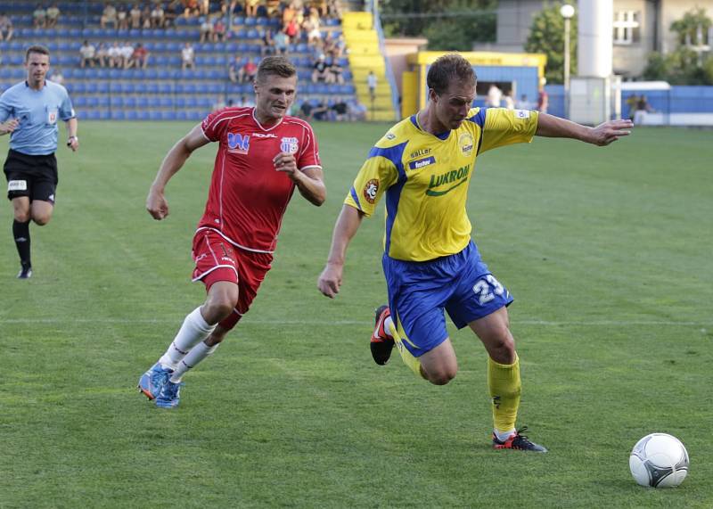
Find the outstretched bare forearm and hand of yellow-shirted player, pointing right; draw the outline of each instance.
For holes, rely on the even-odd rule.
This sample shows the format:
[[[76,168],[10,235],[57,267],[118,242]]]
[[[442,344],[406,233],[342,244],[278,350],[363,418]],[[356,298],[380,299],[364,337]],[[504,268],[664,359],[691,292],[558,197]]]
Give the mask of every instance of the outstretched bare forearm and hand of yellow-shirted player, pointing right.
[[[586,127],[567,119],[540,113],[535,135],[551,138],[572,138],[588,144],[605,146],[621,136],[631,134],[634,123],[629,119],[610,120],[597,127]]]

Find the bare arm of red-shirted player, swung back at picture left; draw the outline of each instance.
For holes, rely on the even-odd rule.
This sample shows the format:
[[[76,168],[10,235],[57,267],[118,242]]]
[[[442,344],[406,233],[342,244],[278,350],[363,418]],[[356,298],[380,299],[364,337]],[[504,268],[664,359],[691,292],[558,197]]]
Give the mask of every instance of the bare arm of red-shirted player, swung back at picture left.
[[[146,210],[149,211],[152,218],[160,221],[168,216],[168,201],[164,196],[168,181],[184,166],[185,161],[194,150],[208,143],[209,139],[203,134],[203,129],[199,124],[168,151],[146,198]]]

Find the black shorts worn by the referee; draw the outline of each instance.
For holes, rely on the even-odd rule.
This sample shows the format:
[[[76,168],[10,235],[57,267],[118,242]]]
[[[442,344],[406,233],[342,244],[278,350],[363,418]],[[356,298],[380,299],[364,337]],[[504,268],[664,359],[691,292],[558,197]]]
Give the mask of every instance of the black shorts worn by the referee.
[[[4,164],[7,178],[7,199],[28,196],[29,201],[42,200],[54,203],[57,191],[57,159],[54,154],[28,155],[7,152]]]

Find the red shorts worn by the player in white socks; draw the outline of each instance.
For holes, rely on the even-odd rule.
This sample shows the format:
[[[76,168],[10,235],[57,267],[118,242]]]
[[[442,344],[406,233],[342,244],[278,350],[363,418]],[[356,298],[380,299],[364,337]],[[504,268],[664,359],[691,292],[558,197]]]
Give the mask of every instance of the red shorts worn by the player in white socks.
[[[206,291],[218,281],[238,285],[238,302],[233,313],[220,322],[232,329],[248,312],[258,293],[260,283],[272,267],[272,253],[260,253],[236,248],[213,230],[201,230],[193,237],[193,281],[202,281]]]

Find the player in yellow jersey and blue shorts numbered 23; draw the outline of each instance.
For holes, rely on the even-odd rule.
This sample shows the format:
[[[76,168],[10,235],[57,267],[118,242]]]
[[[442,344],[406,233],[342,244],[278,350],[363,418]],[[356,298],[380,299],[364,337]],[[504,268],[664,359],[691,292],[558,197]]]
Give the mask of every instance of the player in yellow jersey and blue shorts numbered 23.
[[[476,77],[457,53],[440,57],[427,76],[425,109],[389,129],[373,147],[337,219],[318,288],[340,290],[349,241],[362,218],[386,201],[383,269],[389,306],[376,310],[372,355],[389,360],[394,344],[414,373],[437,385],[458,369],[444,309],[460,329],[468,325],[488,351],[493,445],[546,452],[517,430],[520,365],[509,330],[510,292],[488,271],[471,240],[465,211],[480,153],[533,136],[608,145],[629,134],[629,120],[585,127],[537,111],[471,108]]]

